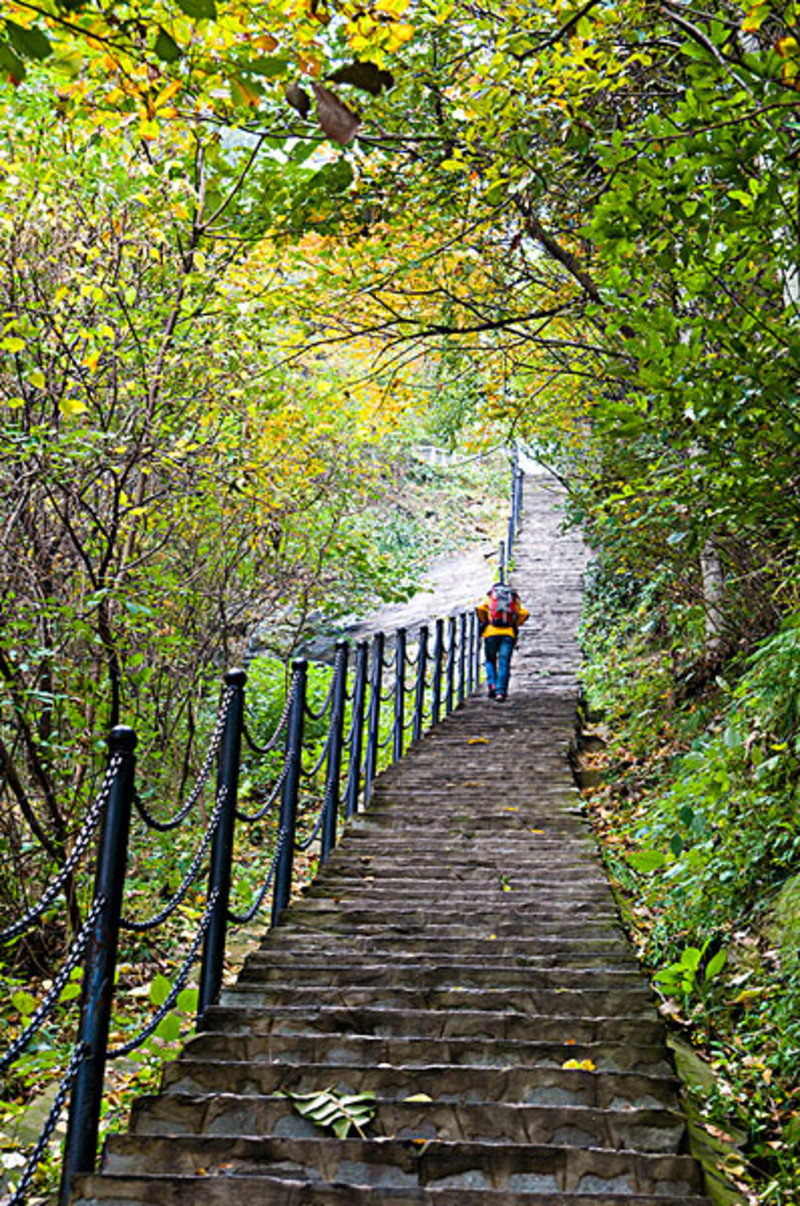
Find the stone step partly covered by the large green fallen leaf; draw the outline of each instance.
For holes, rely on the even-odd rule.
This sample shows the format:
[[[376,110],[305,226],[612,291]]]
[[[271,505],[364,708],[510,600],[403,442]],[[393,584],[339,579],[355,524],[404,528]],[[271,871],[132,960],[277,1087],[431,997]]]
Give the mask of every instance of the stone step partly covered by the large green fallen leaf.
[[[586,1110],[576,1106],[452,1105],[375,1099],[368,1134],[376,1138],[545,1143],[627,1148],[650,1153],[681,1149],[685,1123],[668,1110]],[[274,1135],[316,1138],[320,1130],[286,1096],[170,1094],[140,1097],[134,1135]]]

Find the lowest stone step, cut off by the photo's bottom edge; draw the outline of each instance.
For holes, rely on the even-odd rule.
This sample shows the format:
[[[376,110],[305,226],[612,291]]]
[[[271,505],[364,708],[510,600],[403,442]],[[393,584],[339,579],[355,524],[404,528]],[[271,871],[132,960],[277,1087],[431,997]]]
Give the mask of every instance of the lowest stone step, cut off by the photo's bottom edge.
[[[72,1206],[710,1206],[708,1199],[678,1195],[510,1192],[508,1189],[396,1189],[390,1185],[322,1184],[290,1177],[90,1176],[80,1177]]]

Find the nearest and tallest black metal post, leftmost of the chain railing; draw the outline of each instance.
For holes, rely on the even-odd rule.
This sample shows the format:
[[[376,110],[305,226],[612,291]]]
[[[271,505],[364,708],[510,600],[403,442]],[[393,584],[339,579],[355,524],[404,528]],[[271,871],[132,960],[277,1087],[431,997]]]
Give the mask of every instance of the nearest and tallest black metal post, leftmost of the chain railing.
[[[128,857],[130,806],[134,795],[136,734],[123,725],[111,730],[110,756],[118,755],[119,769],[111,784],[103,820],[94,877],[94,900],[104,900],[89,939],[81,993],[78,1044],[86,1048],[70,1096],[59,1202],[66,1206],[72,1177],[93,1172],[98,1149],[98,1126],[103,1102],[109,1023],[113,1001],[119,914]]]

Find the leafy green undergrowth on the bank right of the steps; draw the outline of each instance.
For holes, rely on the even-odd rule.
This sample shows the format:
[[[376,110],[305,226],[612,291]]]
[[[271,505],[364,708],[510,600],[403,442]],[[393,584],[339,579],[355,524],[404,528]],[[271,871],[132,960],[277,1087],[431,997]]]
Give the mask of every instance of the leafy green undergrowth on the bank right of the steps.
[[[713,1070],[714,1132],[743,1132],[742,1199],[800,1200],[800,615],[708,671],[696,610],[596,573],[583,625],[605,740],[586,790],[660,1008]]]

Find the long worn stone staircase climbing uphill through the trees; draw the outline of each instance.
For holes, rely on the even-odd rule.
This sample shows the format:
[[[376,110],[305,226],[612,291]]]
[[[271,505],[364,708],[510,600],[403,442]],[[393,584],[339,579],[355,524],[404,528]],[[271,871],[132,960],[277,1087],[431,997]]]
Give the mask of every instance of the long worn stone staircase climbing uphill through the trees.
[[[706,1201],[567,765],[584,554],[526,487],[510,701],[469,699],[379,777],[74,1202]],[[282,1095],[322,1089],[375,1094],[367,1137]]]

